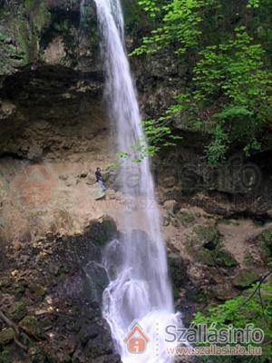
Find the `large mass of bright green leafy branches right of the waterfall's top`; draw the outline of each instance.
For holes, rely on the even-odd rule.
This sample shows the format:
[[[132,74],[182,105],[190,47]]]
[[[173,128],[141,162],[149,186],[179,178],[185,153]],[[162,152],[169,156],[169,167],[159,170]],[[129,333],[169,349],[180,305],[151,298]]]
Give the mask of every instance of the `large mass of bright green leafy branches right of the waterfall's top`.
[[[165,116],[180,116],[182,127],[207,134],[212,164],[223,161],[234,145],[247,156],[261,150],[261,132],[271,122],[272,6],[267,0],[228,3],[227,8],[223,0],[140,0],[158,26],[132,53],[167,47],[186,62],[187,90]]]

